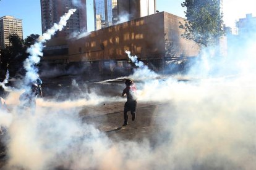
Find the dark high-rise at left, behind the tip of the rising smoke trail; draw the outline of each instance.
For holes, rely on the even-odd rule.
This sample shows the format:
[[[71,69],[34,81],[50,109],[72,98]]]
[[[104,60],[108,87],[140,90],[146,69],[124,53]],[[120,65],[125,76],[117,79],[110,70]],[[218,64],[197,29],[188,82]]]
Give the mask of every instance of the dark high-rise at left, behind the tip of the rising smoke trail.
[[[67,20],[67,26],[58,31],[56,36],[69,36],[73,32],[87,31],[86,0],[80,0],[79,4],[73,4],[72,0],[41,0],[41,24],[42,32],[58,23],[62,15],[69,9],[77,9]]]

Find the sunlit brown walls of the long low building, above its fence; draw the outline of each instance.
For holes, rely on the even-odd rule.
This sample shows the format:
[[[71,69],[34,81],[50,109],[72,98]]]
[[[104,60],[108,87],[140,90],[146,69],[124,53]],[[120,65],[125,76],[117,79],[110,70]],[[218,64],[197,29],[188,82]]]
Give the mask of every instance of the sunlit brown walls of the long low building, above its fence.
[[[139,59],[161,59],[165,54],[166,41],[173,43],[175,57],[197,55],[197,44],[181,38],[184,30],[179,28],[179,22],[183,23],[184,18],[159,12],[92,31],[85,38],[68,42],[69,60],[123,60],[127,59],[125,51],[132,52]]]

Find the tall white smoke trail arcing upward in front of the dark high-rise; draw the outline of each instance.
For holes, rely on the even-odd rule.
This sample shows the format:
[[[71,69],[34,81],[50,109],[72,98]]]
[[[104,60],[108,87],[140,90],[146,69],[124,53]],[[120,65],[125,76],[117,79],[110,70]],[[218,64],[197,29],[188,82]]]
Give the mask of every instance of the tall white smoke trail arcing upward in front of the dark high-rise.
[[[35,64],[40,62],[40,57],[43,57],[43,43],[51,39],[51,36],[53,36],[56,31],[61,31],[62,28],[66,26],[67,20],[69,20],[69,17],[74,14],[75,10],[76,9],[69,9],[69,11],[61,17],[58,24],[54,23],[52,28],[47,30],[46,33],[43,33],[43,35],[37,39],[38,42],[35,42],[35,44],[27,49],[30,56],[23,63],[23,67],[27,71],[25,75],[26,84],[35,81],[37,78],[38,70],[35,68]]]

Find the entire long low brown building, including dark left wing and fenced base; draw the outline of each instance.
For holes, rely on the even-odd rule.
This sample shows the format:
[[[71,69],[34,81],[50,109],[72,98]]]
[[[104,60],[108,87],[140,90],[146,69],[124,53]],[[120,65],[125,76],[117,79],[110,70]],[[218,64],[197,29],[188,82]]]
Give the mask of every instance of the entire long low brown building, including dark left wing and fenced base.
[[[189,59],[198,54],[199,47],[194,41],[181,38],[183,30],[179,28],[179,22],[183,23],[184,18],[167,12],[137,18],[92,31],[85,38],[71,39],[65,51],[49,49],[45,54],[51,55],[45,55],[43,60],[64,65],[83,63],[95,70],[109,68],[109,64],[114,63],[121,70],[132,64],[125,53],[130,51],[158,70],[164,61]],[[171,42],[174,56],[166,55],[166,42]]]

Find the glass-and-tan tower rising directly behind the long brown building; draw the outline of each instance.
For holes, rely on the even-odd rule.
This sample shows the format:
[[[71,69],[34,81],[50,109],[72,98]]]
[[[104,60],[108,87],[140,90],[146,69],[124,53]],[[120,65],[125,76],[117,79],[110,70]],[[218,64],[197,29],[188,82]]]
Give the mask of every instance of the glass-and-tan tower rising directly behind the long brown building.
[[[93,0],[95,30],[155,14],[156,0]]]

